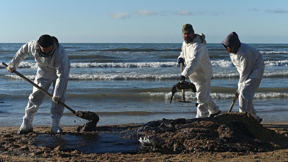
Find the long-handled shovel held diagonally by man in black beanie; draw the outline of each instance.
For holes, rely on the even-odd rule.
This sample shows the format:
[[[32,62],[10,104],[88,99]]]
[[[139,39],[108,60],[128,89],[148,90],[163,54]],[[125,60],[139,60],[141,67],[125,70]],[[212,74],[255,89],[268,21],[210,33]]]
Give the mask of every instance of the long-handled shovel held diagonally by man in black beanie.
[[[6,68],[8,67],[7,64],[5,64],[4,62],[2,62],[2,65],[5,66]],[[41,92],[45,93],[46,95],[48,95],[50,98],[52,98],[53,96],[45,91],[43,88],[41,88],[40,86],[38,86],[37,84],[35,84],[34,82],[32,82],[30,79],[26,78],[25,76],[23,76],[21,73],[19,73],[18,71],[14,70],[13,73],[17,74],[18,76],[20,76],[21,78],[23,78],[24,80],[26,80],[27,82],[29,82],[30,84],[32,84],[33,86],[35,86],[36,88],[38,88]],[[59,101],[59,104],[63,105],[64,107],[66,107],[69,111],[71,111],[73,114],[75,114],[76,116],[82,118],[82,119],[86,119],[89,121],[99,121],[99,116],[93,112],[90,111],[75,111],[72,108],[70,108],[69,106],[67,106],[66,104],[64,104],[63,102]]]

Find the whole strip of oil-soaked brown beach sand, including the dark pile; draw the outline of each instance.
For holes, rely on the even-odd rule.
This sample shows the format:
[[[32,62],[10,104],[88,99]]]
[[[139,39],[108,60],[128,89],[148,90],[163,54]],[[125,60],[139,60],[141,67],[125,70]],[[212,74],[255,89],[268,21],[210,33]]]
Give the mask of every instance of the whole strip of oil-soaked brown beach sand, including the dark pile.
[[[17,135],[18,127],[0,127],[0,161],[288,161],[288,124],[265,127],[245,113],[223,114],[214,119],[98,126],[96,131],[85,134],[77,132],[76,127],[63,127],[64,135],[56,136],[49,135],[48,126],[34,127],[34,132],[27,135]],[[137,143],[128,142],[145,135],[159,148],[141,147],[140,143],[138,148]],[[119,152],[123,153],[85,153],[73,142],[69,145],[77,137],[78,141],[87,141],[81,147],[102,139],[102,143],[89,147],[97,150],[109,146],[112,150],[116,147],[111,143],[117,146],[120,141],[118,146],[127,142],[125,147],[132,151],[127,153],[121,148]]]

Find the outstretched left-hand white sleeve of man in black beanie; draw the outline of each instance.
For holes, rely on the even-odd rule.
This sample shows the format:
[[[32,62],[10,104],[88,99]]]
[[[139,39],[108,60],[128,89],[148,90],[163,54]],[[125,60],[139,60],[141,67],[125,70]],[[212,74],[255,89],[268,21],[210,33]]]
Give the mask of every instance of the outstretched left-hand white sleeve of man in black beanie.
[[[9,65],[17,68],[22,60],[24,60],[28,55],[32,54],[30,45],[31,42],[23,45],[9,62]]]

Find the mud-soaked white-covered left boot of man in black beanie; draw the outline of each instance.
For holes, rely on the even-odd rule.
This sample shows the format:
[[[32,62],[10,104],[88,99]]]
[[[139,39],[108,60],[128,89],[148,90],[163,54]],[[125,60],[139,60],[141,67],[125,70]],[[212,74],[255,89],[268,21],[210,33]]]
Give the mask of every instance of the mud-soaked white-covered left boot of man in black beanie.
[[[32,127],[32,122],[34,119],[34,113],[29,113],[23,116],[23,123],[21,124],[17,135],[23,135],[23,134],[28,134],[30,132],[33,132],[33,127]]]

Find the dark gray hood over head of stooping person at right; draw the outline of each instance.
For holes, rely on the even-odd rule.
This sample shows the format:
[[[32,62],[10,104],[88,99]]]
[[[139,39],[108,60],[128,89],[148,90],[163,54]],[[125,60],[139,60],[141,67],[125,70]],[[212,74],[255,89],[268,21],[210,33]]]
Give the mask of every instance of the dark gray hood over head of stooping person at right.
[[[226,49],[229,47],[233,54],[236,54],[239,47],[241,46],[241,42],[236,32],[228,34],[228,36],[226,36],[226,38],[221,43]]]

